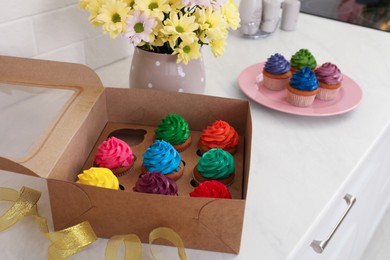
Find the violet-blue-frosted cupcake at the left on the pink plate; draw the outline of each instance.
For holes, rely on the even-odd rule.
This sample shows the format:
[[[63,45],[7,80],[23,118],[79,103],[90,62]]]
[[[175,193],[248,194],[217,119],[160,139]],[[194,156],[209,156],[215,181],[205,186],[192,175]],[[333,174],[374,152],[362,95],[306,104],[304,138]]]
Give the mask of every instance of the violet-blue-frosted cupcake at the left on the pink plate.
[[[276,53],[269,57],[263,68],[263,85],[270,90],[282,90],[291,78],[290,63]]]

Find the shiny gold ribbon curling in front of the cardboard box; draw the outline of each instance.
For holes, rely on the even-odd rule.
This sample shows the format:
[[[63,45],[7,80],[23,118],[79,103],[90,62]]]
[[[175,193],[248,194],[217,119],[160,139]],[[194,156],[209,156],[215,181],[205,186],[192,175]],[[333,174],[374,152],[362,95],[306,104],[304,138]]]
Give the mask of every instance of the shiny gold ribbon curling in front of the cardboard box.
[[[41,197],[39,191],[22,187],[20,192],[0,187],[0,201],[14,202],[14,204],[0,217],[0,232],[10,228],[25,216],[35,218],[40,231],[51,241],[48,248],[48,259],[65,260],[83,250],[97,240],[97,237],[88,221],[75,226],[49,232],[47,219],[38,212],[37,202]],[[152,244],[156,239],[165,239],[177,247],[181,260],[187,260],[183,241],[180,236],[170,228],[159,227],[149,234],[149,246],[153,259]],[[142,244],[137,235],[120,235],[111,237],[106,246],[105,259],[116,260],[121,243],[124,243],[124,259],[140,260],[142,257]]]

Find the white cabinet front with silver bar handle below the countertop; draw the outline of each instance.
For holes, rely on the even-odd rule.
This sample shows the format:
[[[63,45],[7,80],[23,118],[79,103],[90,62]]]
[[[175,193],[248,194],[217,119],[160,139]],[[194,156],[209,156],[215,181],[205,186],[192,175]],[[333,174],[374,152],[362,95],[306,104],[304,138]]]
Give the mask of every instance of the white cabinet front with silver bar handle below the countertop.
[[[348,211],[344,198],[356,198]],[[315,196],[315,194],[312,194]],[[390,127],[367,151],[289,255],[290,260],[357,260],[369,243],[390,202]],[[348,211],[348,212],[347,212]],[[345,217],[343,218],[343,216]],[[337,224],[340,224],[337,227]],[[335,231],[333,235],[332,231]],[[322,253],[313,240],[329,239]]]

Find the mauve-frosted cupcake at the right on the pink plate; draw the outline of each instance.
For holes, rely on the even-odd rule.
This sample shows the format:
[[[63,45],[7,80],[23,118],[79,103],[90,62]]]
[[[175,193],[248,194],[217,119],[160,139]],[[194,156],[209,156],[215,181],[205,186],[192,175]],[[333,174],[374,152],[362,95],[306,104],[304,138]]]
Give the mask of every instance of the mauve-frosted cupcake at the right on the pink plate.
[[[319,83],[319,91],[316,98],[321,100],[335,99],[343,81],[340,69],[330,62],[326,62],[318,67],[314,73]]]

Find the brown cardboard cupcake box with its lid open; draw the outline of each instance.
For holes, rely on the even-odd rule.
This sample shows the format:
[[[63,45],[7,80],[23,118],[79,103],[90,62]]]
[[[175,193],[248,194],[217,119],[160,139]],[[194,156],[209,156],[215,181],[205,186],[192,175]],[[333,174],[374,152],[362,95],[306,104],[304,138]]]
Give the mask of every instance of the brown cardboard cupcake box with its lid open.
[[[239,253],[251,154],[247,101],[104,88],[98,76],[83,65],[6,56],[0,56],[0,84],[67,93],[26,154],[21,158],[0,154],[0,168],[47,179],[55,229],[88,220],[99,237],[134,233],[147,242],[151,230],[166,226],[181,236],[187,248]],[[179,195],[133,192],[142,153],[152,143],[156,125],[169,113],[183,116],[193,135],[191,147],[181,153],[186,165],[177,182]],[[240,136],[236,177],[229,187],[233,199],[191,198],[188,193],[193,189],[190,182],[199,158],[200,133],[219,119],[229,122]],[[126,139],[137,157],[131,172],[119,177],[125,190],[75,183],[76,175],[91,167],[96,147],[112,134]]]

